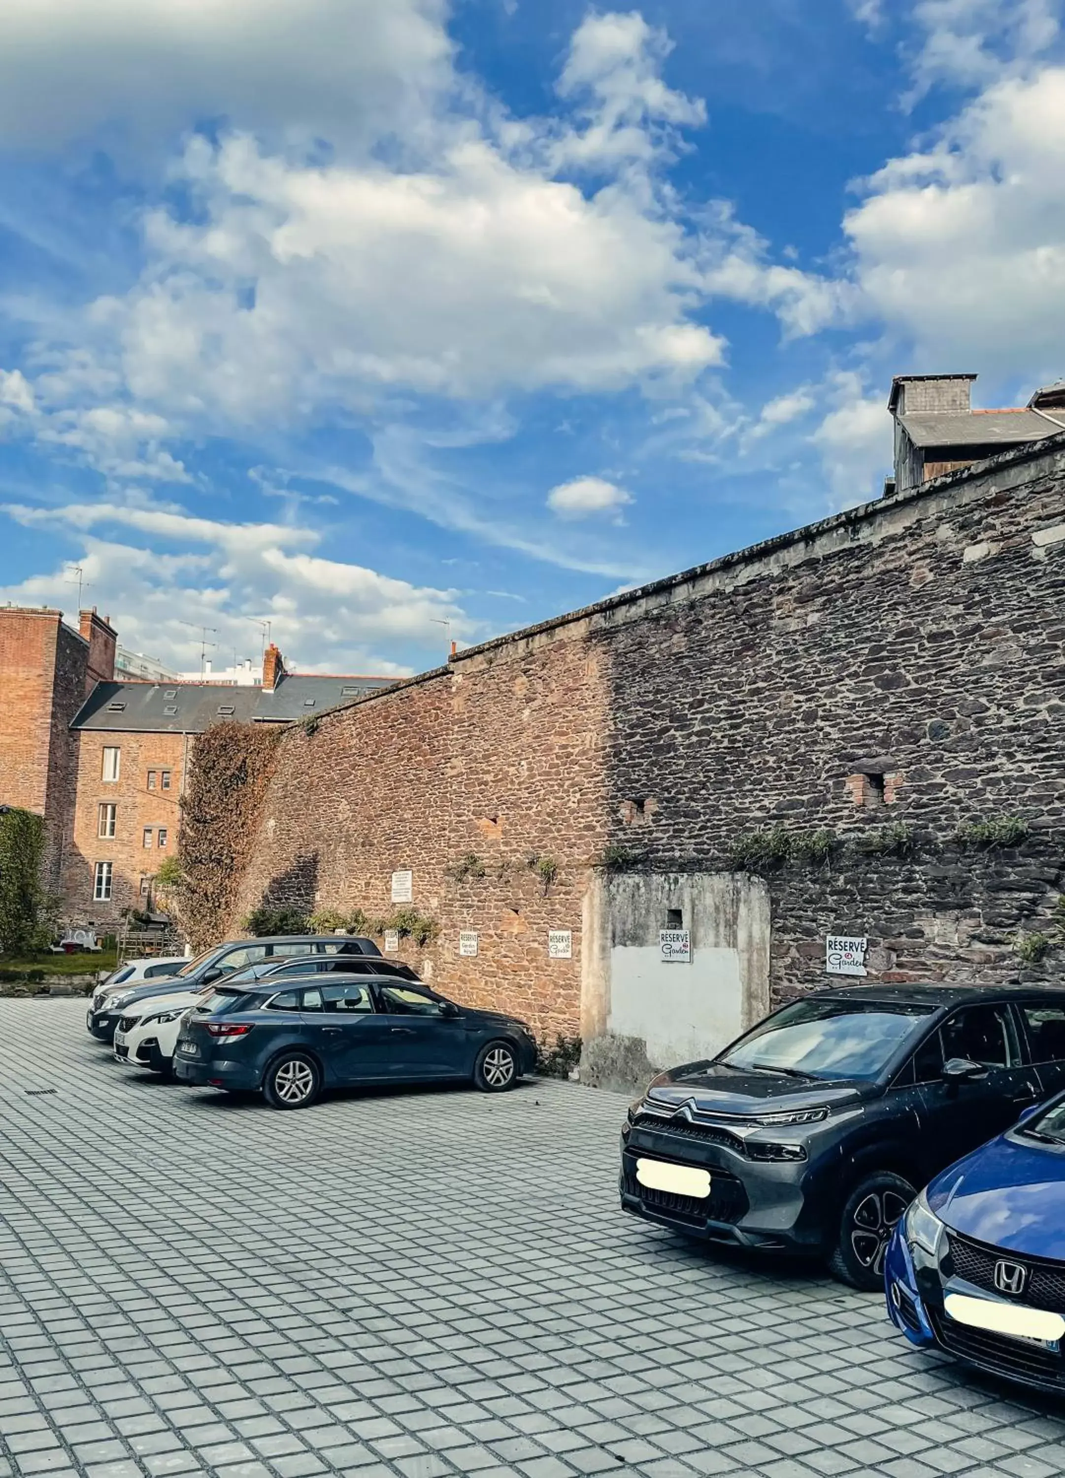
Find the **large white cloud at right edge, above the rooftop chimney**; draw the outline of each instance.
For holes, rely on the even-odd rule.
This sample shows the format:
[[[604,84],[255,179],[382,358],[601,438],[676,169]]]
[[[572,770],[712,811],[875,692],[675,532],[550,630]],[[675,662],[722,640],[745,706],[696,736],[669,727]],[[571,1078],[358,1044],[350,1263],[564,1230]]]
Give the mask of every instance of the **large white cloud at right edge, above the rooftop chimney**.
[[[914,346],[913,368],[1062,372],[1065,68],[987,87],[867,189],[843,223],[855,281],[867,312]]]

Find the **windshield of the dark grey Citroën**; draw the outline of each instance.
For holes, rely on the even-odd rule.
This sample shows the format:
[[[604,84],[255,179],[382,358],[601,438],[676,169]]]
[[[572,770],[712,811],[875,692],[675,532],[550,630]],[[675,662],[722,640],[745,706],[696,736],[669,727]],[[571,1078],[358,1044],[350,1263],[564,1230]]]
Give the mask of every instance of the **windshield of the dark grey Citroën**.
[[[879,1077],[932,1007],[885,1001],[795,1001],[716,1058],[786,1077]]]

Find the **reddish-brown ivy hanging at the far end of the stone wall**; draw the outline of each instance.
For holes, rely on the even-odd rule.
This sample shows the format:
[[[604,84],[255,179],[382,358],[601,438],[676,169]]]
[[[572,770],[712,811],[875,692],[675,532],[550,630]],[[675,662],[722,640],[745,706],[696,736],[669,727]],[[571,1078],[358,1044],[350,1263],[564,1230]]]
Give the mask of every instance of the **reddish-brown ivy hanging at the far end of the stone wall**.
[[[222,723],[192,749],[177,850],[194,949],[220,940],[232,916],[279,738],[273,726]]]

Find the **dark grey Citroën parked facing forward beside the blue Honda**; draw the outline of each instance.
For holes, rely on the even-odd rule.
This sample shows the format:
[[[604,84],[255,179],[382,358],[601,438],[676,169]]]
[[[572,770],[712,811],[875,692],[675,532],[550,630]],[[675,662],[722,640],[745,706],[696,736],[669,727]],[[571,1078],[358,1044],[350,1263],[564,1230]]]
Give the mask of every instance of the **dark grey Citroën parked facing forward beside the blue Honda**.
[[[818,992],[651,1082],[622,1129],[622,1206],[873,1290],[917,1187],[1061,1088],[1065,990]]]

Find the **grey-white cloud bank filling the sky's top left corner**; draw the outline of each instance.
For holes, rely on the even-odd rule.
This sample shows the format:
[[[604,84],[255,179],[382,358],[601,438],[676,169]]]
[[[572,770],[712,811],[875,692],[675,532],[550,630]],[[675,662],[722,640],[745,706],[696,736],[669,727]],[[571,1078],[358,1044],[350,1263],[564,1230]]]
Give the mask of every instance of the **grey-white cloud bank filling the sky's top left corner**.
[[[4,0],[0,142],[227,117],[368,143],[452,83],[445,0]]]

